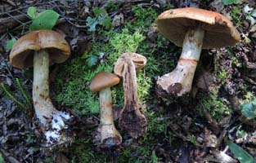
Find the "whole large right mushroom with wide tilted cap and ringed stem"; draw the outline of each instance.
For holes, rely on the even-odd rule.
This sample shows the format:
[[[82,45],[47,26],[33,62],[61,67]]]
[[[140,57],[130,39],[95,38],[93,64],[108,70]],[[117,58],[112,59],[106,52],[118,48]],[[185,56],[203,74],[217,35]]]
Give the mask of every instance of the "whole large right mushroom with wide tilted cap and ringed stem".
[[[182,96],[191,91],[201,49],[233,46],[240,34],[224,15],[198,8],[178,8],[164,11],[155,20],[159,33],[177,46],[182,55],[171,73],[158,78],[159,96]]]

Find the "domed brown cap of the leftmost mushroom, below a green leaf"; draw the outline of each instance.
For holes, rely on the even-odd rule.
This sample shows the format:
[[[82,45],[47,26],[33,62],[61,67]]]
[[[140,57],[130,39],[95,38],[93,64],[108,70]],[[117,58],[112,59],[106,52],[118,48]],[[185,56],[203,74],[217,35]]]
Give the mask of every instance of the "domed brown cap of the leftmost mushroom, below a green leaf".
[[[20,37],[11,49],[11,64],[16,68],[33,66],[34,51],[47,49],[50,64],[62,63],[70,56],[70,46],[52,30],[37,30]]]

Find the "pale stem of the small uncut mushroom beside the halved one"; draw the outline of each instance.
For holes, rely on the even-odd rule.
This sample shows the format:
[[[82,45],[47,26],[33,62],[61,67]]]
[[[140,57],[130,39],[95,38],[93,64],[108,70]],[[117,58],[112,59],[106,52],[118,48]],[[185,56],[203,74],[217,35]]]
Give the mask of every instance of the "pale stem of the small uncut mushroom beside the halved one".
[[[110,87],[100,91],[100,106],[101,144],[107,147],[118,146],[122,142],[122,137],[118,130],[115,129]]]

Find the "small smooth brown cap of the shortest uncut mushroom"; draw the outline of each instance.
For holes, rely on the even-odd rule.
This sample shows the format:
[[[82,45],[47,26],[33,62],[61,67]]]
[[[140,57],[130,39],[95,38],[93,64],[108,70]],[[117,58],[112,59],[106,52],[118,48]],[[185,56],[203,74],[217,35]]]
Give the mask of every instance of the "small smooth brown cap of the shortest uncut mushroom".
[[[115,86],[119,83],[119,81],[119,77],[116,76],[114,73],[97,73],[92,79],[90,90],[92,92],[97,92],[108,87]]]

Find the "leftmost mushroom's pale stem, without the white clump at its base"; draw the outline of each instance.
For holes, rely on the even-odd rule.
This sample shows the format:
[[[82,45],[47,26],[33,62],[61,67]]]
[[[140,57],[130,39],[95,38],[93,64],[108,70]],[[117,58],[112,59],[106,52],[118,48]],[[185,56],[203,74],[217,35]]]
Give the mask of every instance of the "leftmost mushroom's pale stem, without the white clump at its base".
[[[49,54],[47,51],[34,51],[33,102],[39,121],[45,126],[47,119],[57,110],[49,95]]]

